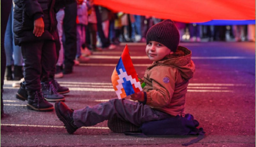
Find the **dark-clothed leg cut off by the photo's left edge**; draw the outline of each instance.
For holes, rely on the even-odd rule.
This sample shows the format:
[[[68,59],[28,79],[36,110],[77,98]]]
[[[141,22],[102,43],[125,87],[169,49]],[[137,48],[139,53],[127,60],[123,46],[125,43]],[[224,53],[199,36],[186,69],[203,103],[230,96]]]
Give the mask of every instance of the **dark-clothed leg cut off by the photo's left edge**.
[[[3,103],[3,85],[4,85],[4,73],[6,68],[6,55],[4,49],[4,34],[6,25],[8,22],[9,14],[11,12],[12,1],[1,0],[1,114],[4,113]]]

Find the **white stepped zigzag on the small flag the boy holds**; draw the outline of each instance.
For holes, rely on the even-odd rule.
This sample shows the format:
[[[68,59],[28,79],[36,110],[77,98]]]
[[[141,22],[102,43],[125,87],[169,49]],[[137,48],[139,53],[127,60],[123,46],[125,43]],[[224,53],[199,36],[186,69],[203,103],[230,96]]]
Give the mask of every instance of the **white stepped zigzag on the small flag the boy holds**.
[[[123,84],[122,84],[122,83],[124,83],[124,80],[123,80],[124,77],[125,77],[126,81],[131,81],[131,83],[134,84],[135,88],[139,88],[140,91],[142,91],[140,82],[137,82],[136,79],[132,79],[132,76],[127,75],[126,72],[123,72],[122,68],[120,68],[119,71],[120,71],[120,74],[118,74],[119,80],[117,80],[118,85],[116,86],[116,88],[117,88],[116,94],[118,96],[118,99],[121,99],[122,89],[124,88]]]

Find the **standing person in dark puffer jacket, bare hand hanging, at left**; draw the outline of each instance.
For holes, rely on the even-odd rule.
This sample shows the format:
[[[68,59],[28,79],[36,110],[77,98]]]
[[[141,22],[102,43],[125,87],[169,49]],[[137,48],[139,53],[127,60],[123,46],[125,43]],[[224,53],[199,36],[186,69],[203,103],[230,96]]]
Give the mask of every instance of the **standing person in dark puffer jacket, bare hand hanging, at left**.
[[[65,101],[65,98],[57,92],[58,83],[50,79],[51,71],[57,62],[56,42],[59,40],[55,12],[75,2],[75,0],[14,1],[14,41],[15,45],[21,46],[25,63],[25,87],[28,92],[28,99],[20,95],[18,98],[28,100],[28,109],[51,111],[54,107],[47,101]],[[19,91],[24,89],[23,86]]]

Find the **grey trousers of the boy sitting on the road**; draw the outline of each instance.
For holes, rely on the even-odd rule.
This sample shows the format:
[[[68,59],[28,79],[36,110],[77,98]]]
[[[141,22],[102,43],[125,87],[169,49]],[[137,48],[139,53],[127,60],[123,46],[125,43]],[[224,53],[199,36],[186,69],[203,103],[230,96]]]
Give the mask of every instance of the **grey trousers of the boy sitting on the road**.
[[[125,99],[111,99],[93,107],[87,106],[84,109],[75,110],[73,115],[77,127],[93,126],[114,116],[136,126],[141,126],[144,122],[173,117],[162,111],[152,109],[148,105]]]

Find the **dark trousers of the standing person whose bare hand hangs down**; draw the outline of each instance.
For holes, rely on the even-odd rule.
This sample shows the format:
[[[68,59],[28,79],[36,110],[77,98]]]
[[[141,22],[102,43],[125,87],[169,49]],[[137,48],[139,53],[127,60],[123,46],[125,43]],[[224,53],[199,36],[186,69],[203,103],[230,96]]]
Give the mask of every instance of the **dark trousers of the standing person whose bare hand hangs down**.
[[[55,41],[42,40],[21,44],[24,77],[27,91],[41,89],[41,81],[48,81],[57,60]]]

